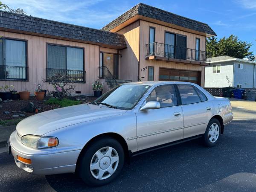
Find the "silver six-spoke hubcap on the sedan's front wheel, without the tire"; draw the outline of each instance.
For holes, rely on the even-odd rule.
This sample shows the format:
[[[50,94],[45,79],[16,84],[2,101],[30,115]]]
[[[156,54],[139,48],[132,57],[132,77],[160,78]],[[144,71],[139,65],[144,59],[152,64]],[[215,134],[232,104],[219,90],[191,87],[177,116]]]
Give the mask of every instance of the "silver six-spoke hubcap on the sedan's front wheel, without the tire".
[[[96,179],[107,179],[116,171],[118,162],[119,157],[116,149],[103,147],[93,155],[90,162],[90,172]]]

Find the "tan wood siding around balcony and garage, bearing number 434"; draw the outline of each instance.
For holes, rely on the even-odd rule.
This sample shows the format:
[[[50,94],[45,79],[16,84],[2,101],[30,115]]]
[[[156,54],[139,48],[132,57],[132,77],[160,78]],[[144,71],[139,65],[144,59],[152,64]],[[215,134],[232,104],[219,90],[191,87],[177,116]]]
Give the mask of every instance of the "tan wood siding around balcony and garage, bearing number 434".
[[[180,69],[180,70],[195,70],[201,71],[201,86],[204,86],[204,67],[199,65],[166,62],[166,61],[155,61],[145,60],[146,56],[146,44],[149,43],[149,26],[155,27],[155,41],[164,44],[165,31],[173,32],[180,35],[187,36],[187,48],[195,49],[195,39],[200,38],[200,50],[205,51],[205,36],[192,34],[189,32],[180,31],[170,27],[150,23],[148,21],[140,21],[140,79],[142,81],[148,80],[148,66],[154,67],[154,80],[158,80],[159,67]],[[134,40],[135,41],[135,40]],[[142,71],[141,71],[142,70]],[[142,78],[144,77],[144,78]]]

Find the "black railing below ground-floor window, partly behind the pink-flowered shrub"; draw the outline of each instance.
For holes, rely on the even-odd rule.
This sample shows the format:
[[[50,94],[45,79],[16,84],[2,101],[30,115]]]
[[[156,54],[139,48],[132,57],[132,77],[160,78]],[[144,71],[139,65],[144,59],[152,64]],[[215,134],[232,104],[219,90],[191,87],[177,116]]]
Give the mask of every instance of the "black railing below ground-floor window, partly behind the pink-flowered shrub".
[[[66,69],[46,69],[46,76],[67,76],[68,82],[85,83],[85,71]]]

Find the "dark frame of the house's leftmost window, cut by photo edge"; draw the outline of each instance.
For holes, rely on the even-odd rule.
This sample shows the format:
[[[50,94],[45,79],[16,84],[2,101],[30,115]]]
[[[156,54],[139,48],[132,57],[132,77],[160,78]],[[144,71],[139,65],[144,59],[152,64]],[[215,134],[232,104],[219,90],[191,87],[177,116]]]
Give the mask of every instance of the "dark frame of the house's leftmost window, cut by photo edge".
[[[29,81],[29,65],[28,65],[28,40],[27,39],[19,39],[19,38],[9,38],[0,36],[0,41],[3,41],[3,66],[6,66],[6,40],[12,41],[23,41],[25,42],[25,79],[0,79],[0,81]],[[9,65],[7,65],[9,66]],[[20,67],[20,66],[13,66],[13,67]]]

